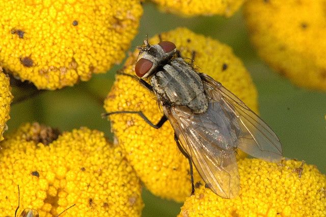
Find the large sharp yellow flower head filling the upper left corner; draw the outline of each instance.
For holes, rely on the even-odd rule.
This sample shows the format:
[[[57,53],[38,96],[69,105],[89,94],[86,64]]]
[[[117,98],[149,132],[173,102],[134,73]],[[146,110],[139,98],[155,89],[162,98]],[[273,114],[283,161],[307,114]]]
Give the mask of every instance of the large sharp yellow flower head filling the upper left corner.
[[[39,89],[72,86],[124,58],[140,1],[0,1],[0,63]]]

